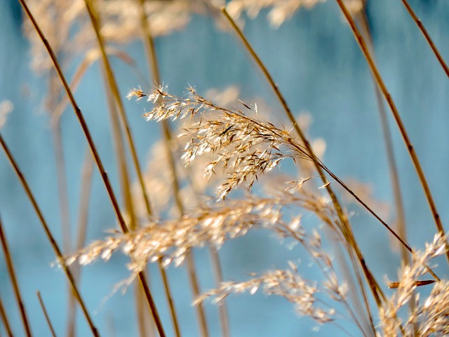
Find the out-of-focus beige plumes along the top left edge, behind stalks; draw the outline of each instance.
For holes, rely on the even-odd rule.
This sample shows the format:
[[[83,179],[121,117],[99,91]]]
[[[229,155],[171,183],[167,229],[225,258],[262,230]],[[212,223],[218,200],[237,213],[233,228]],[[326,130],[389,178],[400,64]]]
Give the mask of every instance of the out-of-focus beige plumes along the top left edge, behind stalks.
[[[29,0],[27,4],[57,53],[65,53],[67,57],[97,48],[85,0]],[[93,4],[99,15],[100,32],[105,41],[128,44],[142,39],[140,0],[97,0]],[[159,37],[183,29],[194,13],[210,13],[220,4],[220,0],[213,1],[213,4],[206,0],[152,0],[145,1],[144,8],[152,36]],[[24,27],[31,41],[33,69],[51,69],[52,63],[46,49],[29,20],[24,21]]]

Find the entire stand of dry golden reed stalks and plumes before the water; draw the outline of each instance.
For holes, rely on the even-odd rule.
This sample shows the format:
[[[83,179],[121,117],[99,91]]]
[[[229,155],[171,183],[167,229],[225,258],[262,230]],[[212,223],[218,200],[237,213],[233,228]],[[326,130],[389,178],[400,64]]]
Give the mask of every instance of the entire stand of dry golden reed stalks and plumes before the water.
[[[363,15],[367,1],[336,2],[349,22],[373,72],[380,105],[383,104],[383,94],[424,188],[436,223],[434,241],[425,244],[424,251],[415,251],[408,244],[405,235],[406,223],[402,223],[399,230],[394,230],[373,207],[368,206],[368,194],[351,189],[350,184],[324,164],[321,159],[322,151],[317,146],[321,144],[323,148],[322,142],[314,143],[308,138],[304,125],[293,116],[272,75],[239,28],[242,21],[238,20],[243,18],[243,13],[249,18],[255,18],[267,10],[264,13],[268,13],[269,24],[279,27],[301,8],[310,9],[323,1],[232,0],[227,4],[219,0],[20,2],[32,21],[32,25],[28,21],[25,24],[25,32],[35,55],[32,66],[40,72],[51,73],[51,88],[54,90],[48,95],[47,106],[52,111],[55,156],[59,160],[60,208],[69,209],[69,201],[65,196],[67,177],[64,173],[65,159],[60,148],[62,138],[59,121],[62,111],[70,103],[93,156],[93,159],[86,159],[83,199],[88,199],[92,163],[95,163],[120,227],[120,230],[111,230],[112,234],[109,236],[85,246],[88,206],[84,203],[81,205],[81,220],[76,229],[76,244],[72,244],[71,225],[68,221],[65,223],[67,219],[62,216],[62,223],[65,223],[62,226],[64,249],[60,249],[25,176],[6,141],[0,136],[1,146],[41,220],[43,230],[55,251],[57,263],[62,266],[69,280],[68,293],[72,295],[68,310],[67,336],[75,335],[76,302],[81,305],[83,316],[93,335],[100,336],[101,333],[93,323],[91,312],[81,297],[80,270],[74,267],[74,263],[88,265],[95,260],[108,261],[116,251],[121,251],[128,257],[129,271],[129,277],[118,284],[117,289],[121,286],[126,289],[133,282],[140,284],[140,287],[135,289],[135,303],[141,336],[150,333],[158,333],[160,336],[168,334],[167,327],[163,326],[159,317],[159,303],[154,301],[153,290],[147,282],[148,265],[151,263],[159,266],[176,336],[181,336],[186,331],[180,329],[175,308],[176,298],[173,298],[170,290],[170,282],[173,280],[166,274],[166,269],[184,265],[187,265],[192,306],[196,308],[201,336],[213,334],[204,310],[208,299],[220,304],[222,335],[229,336],[229,324],[232,322],[229,322],[227,317],[225,299],[231,293],[254,294],[257,291],[284,298],[293,305],[298,315],[309,317],[319,325],[332,324],[334,329],[340,329],[347,334],[350,334],[349,330],[354,329],[358,331],[359,336],[449,334],[449,284],[446,279],[440,279],[436,275],[432,264],[432,260],[438,256],[446,255],[449,258],[447,237],[443,232],[443,225],[420,161],[375,65],[375,48],[370,44],[368,25],[363,21],[366,19]],[[28,2],[30,10],[27,7]],[[408,2],[402,2],[446,72],[447,66],[427,30],[417,19]],[[226,8],[222,7],[220,12],[222,5],[226,5]],[[213,16],[218,27],[231,27],[234,30],[251,60],[255,62],[279,99],[290,124],[282,126],[279,119],[274,121],[267,106],[264,106],[262,111],[256,104],[243,102],[234,88],[229,88],[225,93],[215,92],[213,98],[208,99],[197,93],[194,87],[187,88],[185,95],[179,97],[161,84],[154,37],[182,29],[199,13]],[[122,60],[130,62],[128,55],[117,51],[116,46],[136,39],[141,39],[146,46],[148,65],[152,70],[155,86],[149,92],[138,87],[130,91],[127,97],[145,100],[147,112],[143,117],[147,121],[160,122],[163,136],[161,142],[153,145],[146,172],[140,167],[140,158],[135,149],[135,142],[138,140],[135,140],[127,119],[123,104],[125,94],[119,90],[120,79],[116,78],[109,62],[111,55],[121,55]],[[81,55],[81,65],[76,71],[72,85],[69,85],[65,78],[65,71],[59,60],[62,55],[67,58]],[[74,98],[76,84],[86,68],[95,60],[102,62],[119,168],[120,193],[112,187],[98,147]],[[62,89],[60,84],[57,84],[59,81],[62,82],[68,100],[60,95]],[[4,126],[6,114],[11,110],[12,105],[8,101],[0,104],[0,128]],[[175,131],[172,131],[173,126]],[[388,125],[384,124],[384,128],[388,128]],[[391,137],[387,135],[386,138],[389,151],[391,140],[388,138]],[[131,160],[128,160],[128,157]],[[394,166],[393,155],[389,155],[389,160]],[[294,169],[288,170],[289,174],[286,174],[285,168],[289,165]],[[133,174],[137,183],[132,183]],[[396,180],[395,197],[400,199],[399,179],[397,176],[395,178],[395,175],[392,176],[393,180]],[[396,242],[401,244],[403,264],[398,271],[398,279],[389,282],[389,287],[394,289],[391,296],[386,293],[387,284],[377,280],[378,276],[374,275],[371,266],[366,262],[363,253],[373,252],[362,253],[361,244],[352,229],[347,205],[340,201],[340,194],[335,192],[336,187],[349,193],[383,226],[379,228],[387,229]],[[369,202],[369,205],[371,204],[373,201]],[[403,212],[401,207],[401,201],[396,200],[397,213]],[[304,223],[307,221],[309,223]],[[300,263],[287,260],[286,268],[276,268],[257,275],[251,273],[246,281],[229,281],[222,272],[220,248],[229,240],[242,237],[253,230],[271,232],[281,242],[300,247],[319,276],[310,279]],[[22,314],[22,328],[27,336],[32,336],[32,327],[29,326],[27,312],[22,303],[13,259],[1,224],[0,234],[15,298]],[[210,269],[215,273],[217,281],[215,289],[207,291],[199,286],[199,273],[196,271],[192,254],[193,251],[204,247],[210,249],[213,260]],[[335,251],[340,251],[342,258],[334,258]],[[433,279],[429,279],[427,274]],[[428,293],[420,292],[421,286],[429,288]],[[49,319],[52,312],[46,311],[40,293],[38,294],[48,325],[55,336]],[[140,299],[142,296],[145,296],[147,305]],[[8,335],[12,336],[11,331],[18,327],[10,326],[6,315],[8,310],[9,308],[4,308],[0,302],[2,322]],[[351,322],[349,329],[347,322]]]

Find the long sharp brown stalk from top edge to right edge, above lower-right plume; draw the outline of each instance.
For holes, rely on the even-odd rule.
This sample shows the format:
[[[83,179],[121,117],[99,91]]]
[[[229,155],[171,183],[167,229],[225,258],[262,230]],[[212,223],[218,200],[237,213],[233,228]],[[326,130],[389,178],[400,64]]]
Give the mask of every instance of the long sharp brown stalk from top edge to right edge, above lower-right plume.
[[[432,197],[429,185],[427,184],[427,179],[424,176],[424,171],[422,171],[420,161],[417,157],[415,149],[413,148],[410,138],[408,137],[408,133],[406,131],[405,126],[403,125],[403,121],[401,119],[401,116],[399,115],[396,105],[394,104],[394,101],[391,98],[391,95],[390,95],[389,91],[387,90],[387,86],[385,86],[384,81],[382,80],[382,77],[380,76],[379,71],[377,70],[375,62],[370,54],[370,51],[368,50],[368,46],[366,46],[365,39],[363,39],[361,33],[358,31],[356,23],[354,22],[353,18],[351,17],[351,14],[347,10],[346,6],[344,6],[344,3],[342,0],[336,0],[336,1],[337,1],[338,6],[340,6],[340,9],[342,10],[344,17],[349,22],[349,26],[351,27],[351,30],[354,33],[354,37],[358,43],[358,46],[360,46],[361,51],[368,62],[370,70],[373,73],[373,76],[376,80],[377,86],[379,86],[380,90],[382,91],[382,94],[384,95],[385,100],[387,100],[390,110],[393,113],[394,120],[396,121],[396,124],[398,125],[399,131],[401,132],[401,136],[404,140],[404,143],[406,143],[408,153],[410,154],[410,158],[413,161],[413,165],[415,166],[417,176],[420,179],[422,189],[424,190],[424,194],[427,198],[429,208],[431,210],[432,216],[434,217],[436,230],[438,230],[438,232],[440,232],[442,235],[444,235],[443,224],[441,223],[441,218],[438,214],[438,211],[436,210],[434,198]],[[448,245],[447,240],[446,240],[446,248],[447,248],[446,249],[446,258],[448,259],[448,263],[449,263],[449,245]]]

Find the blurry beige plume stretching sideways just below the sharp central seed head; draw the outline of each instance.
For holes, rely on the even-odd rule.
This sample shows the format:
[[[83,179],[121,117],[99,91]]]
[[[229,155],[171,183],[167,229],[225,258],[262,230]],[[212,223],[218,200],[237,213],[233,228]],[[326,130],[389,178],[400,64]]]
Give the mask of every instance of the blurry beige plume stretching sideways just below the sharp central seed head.
[[[147,261],[163,258],[164,265],[180,265],[194,246],[221,246],[227,239],[246,234],[251,227],[276,225],[281,217],[279,199],[249,198],[226,204],[201,206],[181,218],[153,220],[147,227],[130,234],[116,234],[67,258],[88,264],[98,258],[108,260],[122,249],[133,258],[130,270],[139,272]]]

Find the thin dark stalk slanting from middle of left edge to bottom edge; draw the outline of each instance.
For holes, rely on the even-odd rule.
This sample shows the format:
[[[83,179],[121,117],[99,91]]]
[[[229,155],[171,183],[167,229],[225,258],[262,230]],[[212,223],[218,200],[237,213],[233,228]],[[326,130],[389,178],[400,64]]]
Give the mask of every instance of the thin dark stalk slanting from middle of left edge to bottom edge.
[[[22,0],[20,0],[20,1],[22,1]],[[31,189],[29,188],[27,180],[25,179],[25,176],[23,176],[22,171],[20,171],[18,164],[15,162],[13,154],[11,154],[11,151],[9,150],[8,145],[6,145],[1,134],[0,134],[0,144],[6,154],[6,157],[8,157],[8,161],[11,163],[11,166],[13,166],[15,174],[18,176],[20,183],[22,184],[29,201],[31,201],[31,203],[32,203],[33,209],[36,212],[36,214],[39,218],[39,221],[41,222],[41,225],[43,227],[43,231],[45,232],[46,237],[48,238],[48,241],[50,242],[50,244],[53,248],[53,251],[55,251],[55,256],[56,256],[56,258],[58,258],[58,262],[60,263],[62,270],[64,270],[65,275],[67,276],[67,279],[69,280],[70,286],[72,286],[72,291],[74,291],[76,300],[78,300],[81,310],[83,311],[84,317],[86,317],[89,327],[91,328],[93,336],[100,336],[100,333],[98,333],[97,328],[95,328],[95,325],[93,324],[93,321],[91,319],[91,315],[89,315],[86,305],[84,304],[83,298],[81,298],[81,293],[79,293],[79,290],[76,287],[72,272],[70,271],[69,267],[65,264],[64,256],[62,256],[62,252],[60,251],[60,248],[59,248],[58,244],[56,243],[56,241],[53,237],[53,234],[51,234],[50,228],[48,227],[45,218],[43,218],[41,209],[39,208],[39,205],[37,204],[36,199],[34,199],[34,195],[31,191]]]

